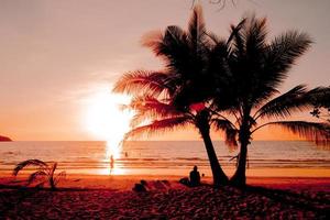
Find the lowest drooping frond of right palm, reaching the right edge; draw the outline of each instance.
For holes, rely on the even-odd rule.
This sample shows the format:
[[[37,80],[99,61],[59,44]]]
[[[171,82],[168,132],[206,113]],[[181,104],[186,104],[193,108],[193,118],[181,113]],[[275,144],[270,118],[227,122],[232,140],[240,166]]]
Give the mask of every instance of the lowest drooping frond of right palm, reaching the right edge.
[[[279,125],[317,145],[330,146],[330,125],[327,123],[307,121],[276,121],[270,125]]]

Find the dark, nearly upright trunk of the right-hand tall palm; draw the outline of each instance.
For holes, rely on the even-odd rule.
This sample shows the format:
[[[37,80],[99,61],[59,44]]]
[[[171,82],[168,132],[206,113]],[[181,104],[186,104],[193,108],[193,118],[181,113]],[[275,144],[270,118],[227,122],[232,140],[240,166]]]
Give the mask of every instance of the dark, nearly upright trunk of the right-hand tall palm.
[[[230,179],[233,186],[245,187],[246,185],[246,155],[248,155],[248,142],[241,142],[241,148],[239,154],[239,165],[238,168]]]

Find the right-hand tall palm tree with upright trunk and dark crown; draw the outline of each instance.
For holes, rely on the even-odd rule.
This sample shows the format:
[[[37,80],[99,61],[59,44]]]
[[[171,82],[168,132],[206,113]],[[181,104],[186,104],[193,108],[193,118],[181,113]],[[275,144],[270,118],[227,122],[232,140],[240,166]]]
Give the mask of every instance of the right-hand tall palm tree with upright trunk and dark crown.
[[[245,186],[248,146],[253,133],[264,127],[283,127],[317,144],[329,144],[327,124],[284,119],[294,112],[308,110],[312,107],[312,100],[329,92],[330,87],[308,90],[306,86],[299,85],[274,98],[290,67],[310,46],[310,37],[305,33],[289,31],[268,43],[266,36],[265,19],[250,16],[238,26],[232,26],[227,54],[230,73],[227,80],[231,86],[221,86],[227,89],[223,94],[231,97],[227,99],[230,101],[228,108],[223,109],[223,100],[219,98],[221,96],[215,98],[218,111],[226,111],[231,116],[229,118],[234,119],[227,124],[230,132],[226,138],[230,140],[229,143],[240,145],[237,172],[231,178],[235,186]]]

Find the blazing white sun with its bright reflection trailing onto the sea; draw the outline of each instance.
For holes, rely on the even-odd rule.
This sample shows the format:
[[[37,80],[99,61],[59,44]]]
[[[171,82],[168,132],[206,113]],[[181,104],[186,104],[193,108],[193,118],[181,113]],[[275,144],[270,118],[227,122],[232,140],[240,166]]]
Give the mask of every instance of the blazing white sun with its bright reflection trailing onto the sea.
[[[98,90],[88,98],[86,128],[98,140],[107,141],[106,162],[110,161],[111,155],[114,160],[120,158],[121,141],[130,130],[132,118],[132,112],[123,110],[121,106],[129,101],[128,96],[111,94],[109,87]],[[113,174],[118,172],[114,166]]]

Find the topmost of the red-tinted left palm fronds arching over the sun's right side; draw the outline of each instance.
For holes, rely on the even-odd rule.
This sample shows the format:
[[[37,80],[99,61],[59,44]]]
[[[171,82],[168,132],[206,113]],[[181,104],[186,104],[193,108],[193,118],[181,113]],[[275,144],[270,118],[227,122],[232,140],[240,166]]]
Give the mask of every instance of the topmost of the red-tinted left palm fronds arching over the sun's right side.
[[[166,89],[168,75],[162,72],[135,70],[124,74],[114,85],[113,91],[125,94],[160,95]]]

